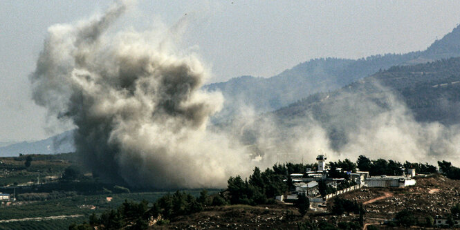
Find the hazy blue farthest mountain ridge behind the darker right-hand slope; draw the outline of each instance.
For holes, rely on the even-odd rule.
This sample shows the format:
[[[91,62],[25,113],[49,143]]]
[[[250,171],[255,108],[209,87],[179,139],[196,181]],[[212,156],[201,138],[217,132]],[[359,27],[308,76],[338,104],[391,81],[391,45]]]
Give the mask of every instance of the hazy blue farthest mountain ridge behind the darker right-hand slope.
[[[434,41],[424,51],[375,55],[357,60],[312,59],[270,78],[236,77],[203,88],[223,93],[226,99],[223,111],[213,117],[214,122],[223,122],[245,113],[248,108],[253,108],[256,113],[276,110],[313,93],[341,88],[378,70],[448,57],[460,57],[460,27],[454,28],[443,39]]]

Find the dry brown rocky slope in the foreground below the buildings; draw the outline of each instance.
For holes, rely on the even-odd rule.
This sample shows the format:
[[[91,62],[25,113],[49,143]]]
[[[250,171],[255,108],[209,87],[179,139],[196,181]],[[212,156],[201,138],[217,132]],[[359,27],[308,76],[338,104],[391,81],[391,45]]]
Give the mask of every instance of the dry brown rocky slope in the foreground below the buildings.
[[[459,180],[433,175],[430,178],[418,178],[415,186],[407,188],[363,188],[342,194],[340,198],[366,203],[366,222],[377,224],[375,226],[378,226],[378,229],[390,229],[378,223],[391,220],[403,209],[412,210],[421,220],[428,215],[447,215],[450,207],[460,202],[459,191]],[[330,199],[329,208],[332,203],[333,199]],[[297,209],[287,204],[257,207],[234,205],[212,207],[200,213],[181,216],[165,226],[153,226],[152,229],[297,229],[297,222],[307,220],[338,223],[357,221],[358,215],[333,216],[328,213],[310,212],[302,217]]]

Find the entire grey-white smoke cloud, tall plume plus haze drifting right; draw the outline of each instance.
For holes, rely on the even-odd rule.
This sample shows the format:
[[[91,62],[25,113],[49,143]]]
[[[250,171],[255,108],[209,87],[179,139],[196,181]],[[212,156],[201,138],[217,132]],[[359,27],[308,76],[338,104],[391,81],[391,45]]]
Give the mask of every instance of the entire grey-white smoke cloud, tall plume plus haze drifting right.
[[[30,77],[35,102],[77,127],[77,153],[103,178],[156,188],[223,187],[256,165],[313,162],[320,150],[329,160],[459,163],[459,127],[416,122],[385,89],[372,97],[324,97],[318,109],[287,113],[259,115],[244,105],[239,119],[210,129],[223,97],[201,90],[208,69],[172,46],[172,30],[107,32],[125,10],[115,4],[101,17],[50,27]],[[251,160],[258,154],[260,162]]]

